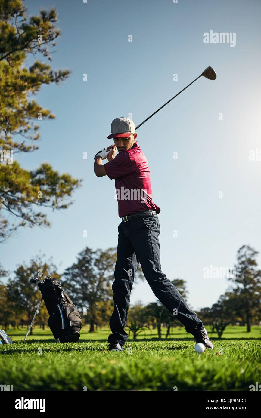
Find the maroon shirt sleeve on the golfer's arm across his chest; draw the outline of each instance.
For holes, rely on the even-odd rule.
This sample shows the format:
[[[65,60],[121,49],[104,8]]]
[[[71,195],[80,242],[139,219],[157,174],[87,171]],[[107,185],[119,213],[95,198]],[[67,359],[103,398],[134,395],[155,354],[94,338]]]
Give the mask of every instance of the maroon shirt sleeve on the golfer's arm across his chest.
[[[132,161],[128,154],[124,152],[119,153],[113,158],[112,161],[104,164],[104,169],[107,176],[113,180],[113,178],[128,176],[135,170],[135,161]]]

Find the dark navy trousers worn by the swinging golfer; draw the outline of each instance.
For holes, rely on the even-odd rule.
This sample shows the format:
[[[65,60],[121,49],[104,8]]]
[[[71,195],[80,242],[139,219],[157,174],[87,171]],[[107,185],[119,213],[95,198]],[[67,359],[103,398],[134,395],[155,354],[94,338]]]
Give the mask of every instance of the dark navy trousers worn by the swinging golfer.
[[[124,329],[130,292],[139,263],[154,295],[171,314],[177,309],[175,317],[187,332],[194,335],[203,326],[197,314],[189,309],[182,295],[161,272],[159,234],[160,224],[157,215],[122,221],[118,226],[117,261],[112,286],[114,309],[110,319],[112,334],[108,337],[109,343],[115,341],[124,345],[127,341],[128,334]]]

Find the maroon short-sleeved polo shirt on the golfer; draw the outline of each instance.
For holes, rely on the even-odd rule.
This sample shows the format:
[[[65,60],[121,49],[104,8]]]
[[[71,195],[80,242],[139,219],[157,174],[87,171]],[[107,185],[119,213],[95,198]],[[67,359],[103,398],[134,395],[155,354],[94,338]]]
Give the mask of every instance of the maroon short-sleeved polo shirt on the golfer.
[[[118,200],[119,217],[136,212],[161,209],[152,200],[151,176],[148,161],[138,145],[121,151],[104,164],[107,176],[115,179],[115,199]]]

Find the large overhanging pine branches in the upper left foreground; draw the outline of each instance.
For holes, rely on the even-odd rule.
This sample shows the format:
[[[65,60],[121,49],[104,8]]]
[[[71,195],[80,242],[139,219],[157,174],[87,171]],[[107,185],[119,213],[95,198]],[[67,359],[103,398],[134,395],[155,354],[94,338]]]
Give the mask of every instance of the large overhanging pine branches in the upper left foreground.
[[[10,153],[38,149],[39,126],[35,121],[54,118],[50,110],[28,96],[35,95],[43,84],[59,84],[70,73],[53,71],[38,60],[28,66],[28,54],[33,58],[41,54],[51,61],[49,47],[56,45],[60,35],[54,25],[56,10],[39,13],[28,18],[22,0],[0,0],[0,242],[18,227],[49,226],[38,208],[67,208],[72,204],[72,192],[81,183],[67,173],[58,174],[48,163],[33,171],[25,170],[17,161],[10,163]]]

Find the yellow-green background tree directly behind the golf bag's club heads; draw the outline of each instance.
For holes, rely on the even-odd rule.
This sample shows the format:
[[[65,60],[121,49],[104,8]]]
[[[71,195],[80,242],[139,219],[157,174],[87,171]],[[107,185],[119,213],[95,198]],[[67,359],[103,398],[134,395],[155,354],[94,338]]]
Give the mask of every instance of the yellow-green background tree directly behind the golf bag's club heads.
[[[52,262],[43,262],[40,257],[32,259],[28,266],[19,265],[15,270],[15,278],[9,279],[6,285],[7,288],[7,304],[12,304],[16,309],[16,324],[18,324],[20,317],[26,315],[27,323],[30,324],[36,306],[41,300],[41,293],[34,285],[29,283],[29,278],[35,276],[38,270],[41,269],[44,276],[51,275],[52,278],[59,279],[61,276],[56,273],[56,266]],[[44,306],[41,308],[44,309]],[[33,334],[33,327],[31,328],[31,335]]]

